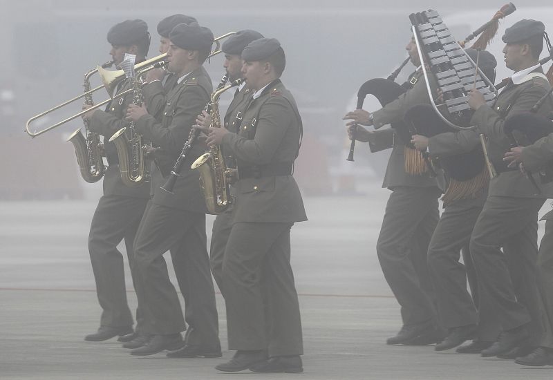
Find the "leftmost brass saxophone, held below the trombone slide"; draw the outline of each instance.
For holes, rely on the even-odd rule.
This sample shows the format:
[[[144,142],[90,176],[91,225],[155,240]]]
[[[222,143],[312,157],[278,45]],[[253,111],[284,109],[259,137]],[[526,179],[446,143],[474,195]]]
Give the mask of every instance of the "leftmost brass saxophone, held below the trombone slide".
[[[113,65],[113,61],[106,62],[102,65],[102,68],[108,68]],[[98,69],[89,70],[84,75],[84,104],[93,105],[91,82],[92,75],[97,73]],[[84,131],[86,137],[81,133],[81,129],[71,133],[68,138],[68,142],[73,144],[75,148],[75,155],[77,155],[77,163],[79,164],[79,171],[82,178],[88,183],[98,182],[106,172],[106,166],[104,165],[104,159],[102,154],[102,144],[100,143],[100,134],[92,132],[88,129],[88,120],[83,119]]]

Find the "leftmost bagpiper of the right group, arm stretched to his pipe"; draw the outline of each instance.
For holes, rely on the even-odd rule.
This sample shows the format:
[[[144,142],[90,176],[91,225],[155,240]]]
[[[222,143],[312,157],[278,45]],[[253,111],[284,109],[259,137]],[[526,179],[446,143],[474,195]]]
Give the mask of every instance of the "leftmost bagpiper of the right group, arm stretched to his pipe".
[[[411,62],[420,66],[414,38],[406,46],[406,50]],[[435,80],[433,77],[430,79]],[[373,125],[375,129],[379,129],[385,124],[402,121],[411,107],[429,104],[429,94],[421,68],[411,76],[410,82],[414,83],[412,88],[379,111],[368,113],[359,109],[347,113],[344,120],[352,120],[346,124],[350,138],[356,123]],[[401,305],[403,327],[386,343],[437,343],[443,336],[436,321],[433,292],[427,273],[427,251],[438,223],[440,189],[429,173],[411,175],[406,172],[405,142],[401,142],[393,130],[369,132],[359,126],[355,137],[362,142],[371,140],[377,144],[384,144],[387,140],[389,145],[393,145],[382,184],[382,187],[391,189],[392,193],[378,237],[377,254],[384,277]]]

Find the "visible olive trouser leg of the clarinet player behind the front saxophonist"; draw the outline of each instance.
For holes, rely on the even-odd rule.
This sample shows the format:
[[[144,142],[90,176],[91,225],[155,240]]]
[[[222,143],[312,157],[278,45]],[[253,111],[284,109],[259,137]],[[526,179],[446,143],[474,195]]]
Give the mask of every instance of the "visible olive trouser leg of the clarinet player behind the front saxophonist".
[[[212,267],[213,278],[223,294],[223,257],[225,256],[225,247],[229,240],[232,230],[232,206],[223,213],[218,214],[213,222],[212,241],[209,248],[209,264]]]

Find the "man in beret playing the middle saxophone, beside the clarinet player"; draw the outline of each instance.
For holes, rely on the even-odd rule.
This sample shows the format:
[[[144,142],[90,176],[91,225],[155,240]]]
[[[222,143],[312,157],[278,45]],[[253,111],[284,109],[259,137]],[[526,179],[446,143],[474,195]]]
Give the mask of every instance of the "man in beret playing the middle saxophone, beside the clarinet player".
[[[203,153],[203,146],[195,145],[180,173],[174,194],[163,191],[174,162],[189,136],[196,115],[204,108],[212,93],[212,82],[203,71],[202,64],[210,53],[214,41],[211,30],[197,23],[180,23],[169,34],[171,44],[167,51],[169,71],[177,75],[176,86],[167,95],[162,122],[147,113],[144,106],[129,106],[127,118],[160,150],[156,151],[156,168],[152,173],[153,198],[148,202],[135,239],[135,274],[137,296],[144,304],[144,331],[153,335],[133,355],[155,354],[162,350],[176,350],[182,345],[180,332],[185,321],[174,286],[169,281],[163,254],[175,249],[187,257],[184,269],[189,299],[194,305],[194,331],[189,333],[179,357],[221,357],[218,339],[218,317],[205,231],[202,242],[188,249],[189,240],[198,234],[190,229],[202,226],[205,230],[205,201],[200,191],[198,173],[190,164]],[[181,249],[180,247],[186,247]]]

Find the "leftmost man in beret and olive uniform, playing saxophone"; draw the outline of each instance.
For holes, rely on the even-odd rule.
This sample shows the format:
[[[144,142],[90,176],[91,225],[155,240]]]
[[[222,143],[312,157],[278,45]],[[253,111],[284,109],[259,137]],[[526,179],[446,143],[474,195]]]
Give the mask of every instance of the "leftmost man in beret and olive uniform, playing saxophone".
[[[142,20],[126,20],[116,24],[109,30],[107,39],[112,46],[110,55],[115,65],[123,61],[125,53],[136,55],[137,63],[144,61],[148,53],[150,35],[147,24]],[[118,93],[129,88],[129,82],[123,81],[118,86]],[[91,131],[104,136],[109,164],[104,176],[104,195],[96,207],[88,236],[96,292],[103,311],[100,329],[86,336],[86,341],[104,341],[133,332],[133,317],[126,302],[123,256],[117,245],[124,239],[127,258],[132,267],[133,240],[149,198],[149,184],[144,183],[132,189],[123,184],[117,150],[113,142],[108,142],[113,133],[128,126],[124,117],[132,99],[133,94],[130,92],[123,97],[115,97],[106,111],[96,109],[84,115],[89,120]]]

